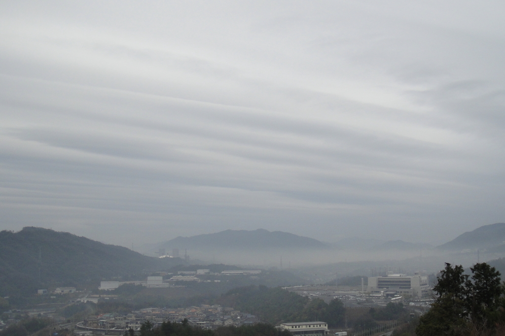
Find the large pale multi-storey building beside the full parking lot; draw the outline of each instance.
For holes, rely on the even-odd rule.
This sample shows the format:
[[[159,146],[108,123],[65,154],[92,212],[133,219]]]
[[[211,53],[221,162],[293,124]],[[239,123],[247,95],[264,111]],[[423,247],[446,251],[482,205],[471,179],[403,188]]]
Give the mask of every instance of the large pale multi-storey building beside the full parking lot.
[[[430,293],[428,277],[406,274],[388,274],[386,276],[371,276],[368,278],[367,292],[370,294],[427,296]]]

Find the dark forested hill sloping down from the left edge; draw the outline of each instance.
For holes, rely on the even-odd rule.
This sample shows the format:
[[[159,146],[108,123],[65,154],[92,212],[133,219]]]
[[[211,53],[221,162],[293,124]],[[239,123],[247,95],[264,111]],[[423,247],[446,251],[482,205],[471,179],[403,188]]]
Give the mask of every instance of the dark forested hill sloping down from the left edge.
[[[2,231],[0,295],[26,295],[55,286],[97,286],[114,277],[133,278],[182,263],[180,258],[147,257],[66,232],[33,227]]]

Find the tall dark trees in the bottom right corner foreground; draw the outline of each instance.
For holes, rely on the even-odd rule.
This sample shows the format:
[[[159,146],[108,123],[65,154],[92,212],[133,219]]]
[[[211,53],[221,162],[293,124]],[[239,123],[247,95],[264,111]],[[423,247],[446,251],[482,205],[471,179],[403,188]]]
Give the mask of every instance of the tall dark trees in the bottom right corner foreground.
[[[470,268],[446,263],[433,288],[432,308],[420,318],[417,336],[505,334],[505,299],[500,273],[487,263]]]

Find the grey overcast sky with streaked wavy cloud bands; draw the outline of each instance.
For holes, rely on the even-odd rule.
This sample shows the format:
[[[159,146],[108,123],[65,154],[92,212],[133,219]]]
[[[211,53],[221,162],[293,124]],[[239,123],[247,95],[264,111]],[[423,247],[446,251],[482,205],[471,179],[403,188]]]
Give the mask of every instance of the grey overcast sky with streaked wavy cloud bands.
[[[505,222],[505,3],[0,3],[0,229],[441,244]]]

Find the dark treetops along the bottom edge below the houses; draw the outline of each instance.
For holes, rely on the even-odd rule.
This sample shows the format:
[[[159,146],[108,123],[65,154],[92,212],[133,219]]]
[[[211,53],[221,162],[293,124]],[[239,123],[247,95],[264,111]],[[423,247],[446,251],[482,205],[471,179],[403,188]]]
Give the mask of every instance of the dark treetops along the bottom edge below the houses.
[[[125,336],[134,336],[130,329]],[[287,330],[279,330],[271,324],[257,323],[254,325],[224,326],[216,330],[204,330],[190,326],[187,320],[182,323],[163,322],[159,327],[154,327],[150,321],[145,321],[140,326],[140,336],[289,336]]]

